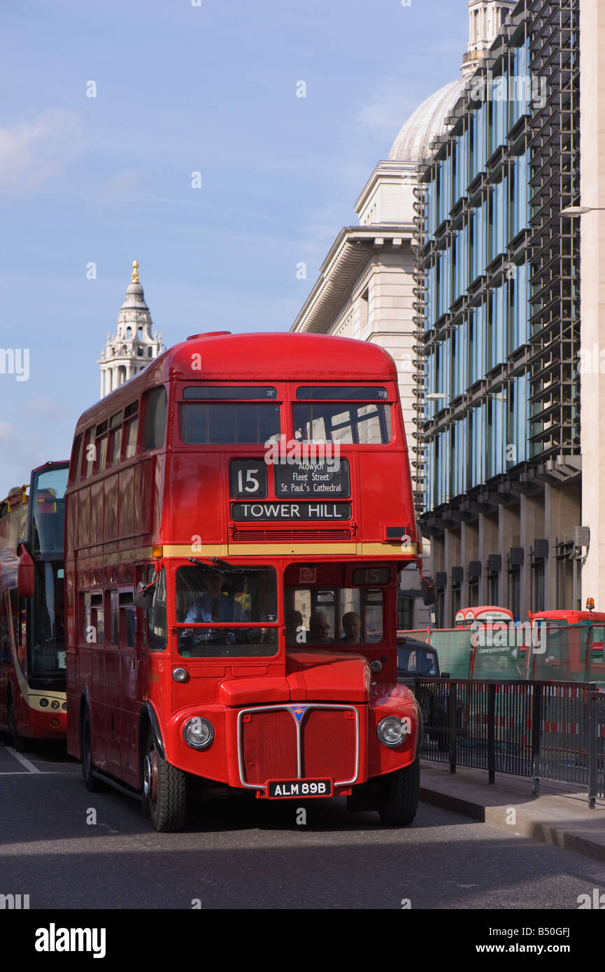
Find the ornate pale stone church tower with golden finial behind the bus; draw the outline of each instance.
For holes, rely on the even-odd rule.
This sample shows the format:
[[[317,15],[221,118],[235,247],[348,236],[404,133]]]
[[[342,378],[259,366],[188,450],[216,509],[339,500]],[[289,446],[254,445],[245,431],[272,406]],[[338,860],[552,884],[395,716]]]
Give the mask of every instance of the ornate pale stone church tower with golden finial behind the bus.
[[[161,334],[158,335],[158,331],[155,331],[152,336],[153,322],[145,303],[138,268],[138,260],[133,260],[132,276],[118,315],[118,329],[113,337],[107,335],[107,344],[98,360],[101,369],[101,399],[142,371],[163,350]]]

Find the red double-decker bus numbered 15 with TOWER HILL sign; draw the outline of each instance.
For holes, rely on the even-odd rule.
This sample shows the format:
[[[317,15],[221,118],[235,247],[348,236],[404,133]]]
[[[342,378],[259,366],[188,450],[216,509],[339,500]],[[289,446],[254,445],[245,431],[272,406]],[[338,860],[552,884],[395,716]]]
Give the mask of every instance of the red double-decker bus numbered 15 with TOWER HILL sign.
[[[89,789],[141,794],[158,830],[205,786],[412,820],[397,587],[420,546],[386,352],[196,334],[81,417],[66,522],[68,748]]]

